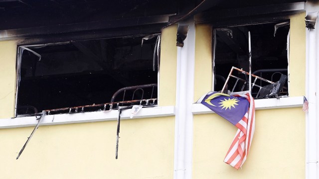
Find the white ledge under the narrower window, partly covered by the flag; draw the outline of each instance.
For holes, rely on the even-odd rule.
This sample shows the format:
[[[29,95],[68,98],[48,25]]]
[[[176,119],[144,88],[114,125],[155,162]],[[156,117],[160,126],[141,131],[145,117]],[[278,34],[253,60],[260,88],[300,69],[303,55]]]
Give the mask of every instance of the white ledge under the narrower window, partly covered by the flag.
[[[304,96],[297,97],[281,97],[280,99],[256,99],[255,109],[276,109],[276,108],[290,108],[290,107],[302,107],[304,104]],[[214,113],[208,107],[203,104],[193,104],[192,105],[193,114],[208,114]]]

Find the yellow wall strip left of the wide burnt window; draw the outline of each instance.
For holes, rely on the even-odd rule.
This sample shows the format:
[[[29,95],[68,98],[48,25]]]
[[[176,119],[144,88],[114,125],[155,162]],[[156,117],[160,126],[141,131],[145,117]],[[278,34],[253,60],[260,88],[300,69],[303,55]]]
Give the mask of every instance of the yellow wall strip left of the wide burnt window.
[[[17,41],[0,41],[0,119],[14,115]]]

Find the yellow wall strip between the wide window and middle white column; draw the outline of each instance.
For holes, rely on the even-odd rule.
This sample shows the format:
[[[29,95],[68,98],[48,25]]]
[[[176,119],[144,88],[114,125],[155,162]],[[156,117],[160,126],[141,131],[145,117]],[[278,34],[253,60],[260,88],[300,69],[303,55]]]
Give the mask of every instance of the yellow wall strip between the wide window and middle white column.
[[[164,28],[160,42],[160,95],[159,105],[175,105],[177,70],[177,25]]]

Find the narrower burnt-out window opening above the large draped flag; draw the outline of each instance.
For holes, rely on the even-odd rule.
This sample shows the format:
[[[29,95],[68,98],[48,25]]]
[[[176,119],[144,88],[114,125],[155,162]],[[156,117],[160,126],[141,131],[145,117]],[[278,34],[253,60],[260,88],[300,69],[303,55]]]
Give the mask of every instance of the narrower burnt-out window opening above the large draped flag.
[[[223,89],[232,67],[249,72],[248,32],[251,36],[251,74],[272,82],[280,81],[282,75],[288,76],[289,31],[289,22],[215,28],[213,31],[213,89],[215,91]],[[249,75],[240,71],[234,71],[233,75],[247,83],[238,81],[236,84],[236,79],[230,78],[223,92],[249,90]],[[251,84],[253,83],[254,79]],[[284,83],[284,89],[279,95],[287,96],[288,80]],[[256,84],[261,87],[269,85],[259,79]],[[252,96],[261,98],[257,95],[258,91],[259,88],[253,87]]]

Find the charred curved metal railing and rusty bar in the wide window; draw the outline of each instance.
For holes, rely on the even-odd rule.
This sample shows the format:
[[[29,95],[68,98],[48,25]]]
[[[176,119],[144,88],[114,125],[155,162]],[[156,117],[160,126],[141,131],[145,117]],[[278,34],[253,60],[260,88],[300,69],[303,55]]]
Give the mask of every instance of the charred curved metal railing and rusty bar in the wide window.
[[[153,97],[156,87],[157,87],[157,84],[125,87],[125,88],[117,90],[113,94],[111,101],[107,103],[64,107],[64,108],[58,108],[58,109],[47,109],[47,110],[43,110],[43,112],[45,112],[47,115],[50,115],[50,114],[60,114],[60,113],[77,113],[77,112],[88,112],[88,111],[98,111],[98,110],[112,110],[112,109],[118,109],[120,106],[123,106],[123,105],[134,105],[134,104],[155,105],[157,104],[157,101],[158,101],[156,97],[155,98]],[[143,98],[145,88],[152,88],[151,97],[148,99]],[[134,90],[132,100],[125,100],[125,95],[128,90]],[[140,99],[134,99],[136,97],[135,94],[137,93],[137,91],[142,92],[142,97]],[[121,92],[124,92],[122,101],[114,101]]]

